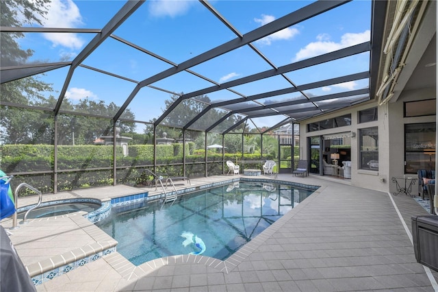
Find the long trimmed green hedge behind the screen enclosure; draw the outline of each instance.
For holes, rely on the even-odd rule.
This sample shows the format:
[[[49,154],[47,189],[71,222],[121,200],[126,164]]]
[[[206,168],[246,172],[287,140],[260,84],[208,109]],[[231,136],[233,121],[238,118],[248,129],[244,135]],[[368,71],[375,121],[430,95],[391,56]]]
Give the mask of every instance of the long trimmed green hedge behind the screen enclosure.
[[[205,175],[205,151],[196,150],[194,143],[185,144],[185,175],[189,177]],[[103,145],[60,145],[57,147],[57,191],[112,185],[113,146]],[[5,173],[29,173],[15,175],[11,184],[15,188],[26,182],[42,193],[54,191],[54,150],[53,145],[1,145],[1,169]],[[123,156],[122,147],[116,147],[116,184],[132,186],[150,181],[153,171],[153,145],[129,145],[128,156]],[[183,144],[157,145],[157,173],[172,176],[183,175]],[[260,160],[260,154],[224,154],[224,160]],[[222,174],[222,154],[207,154],[208,175]],[[272,156],[263,156],[272,160]],[[261,168],[259,165],[251,167]],[[101,169],[107,168],[107,169]],[[81,169],[80,171],[68,171]],[[101,169],[101,170],[91,170]],[[227,169],[225,167],[225,169]],[[46,171],[47,173],[34,173]],[[33,195],[30,191],[19,194]]]

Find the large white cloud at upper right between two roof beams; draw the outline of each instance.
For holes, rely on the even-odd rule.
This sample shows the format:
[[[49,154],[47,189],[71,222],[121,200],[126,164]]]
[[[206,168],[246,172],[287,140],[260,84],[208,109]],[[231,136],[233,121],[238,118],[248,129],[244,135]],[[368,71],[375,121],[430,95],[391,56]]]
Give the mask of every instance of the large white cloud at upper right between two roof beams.
[[[336,51],[352,45],[357,45],[361,42],[366,42],[370,40],[370,30],[367,29],[365,32],[360,32],[358,34],[344,34],[341,37],[340,42],[330,41],[330,36],[328,34],[318,34],[316,39],[318,41],[309,43],[306,47],[300,49],[300,51],[296,53],[296,61],[318,56],[323,53],[329,53],[331,51]]]

